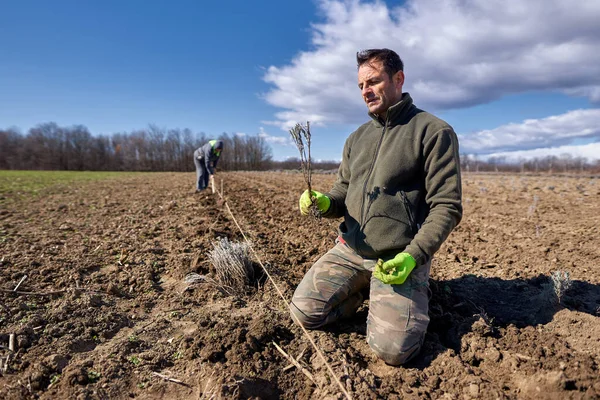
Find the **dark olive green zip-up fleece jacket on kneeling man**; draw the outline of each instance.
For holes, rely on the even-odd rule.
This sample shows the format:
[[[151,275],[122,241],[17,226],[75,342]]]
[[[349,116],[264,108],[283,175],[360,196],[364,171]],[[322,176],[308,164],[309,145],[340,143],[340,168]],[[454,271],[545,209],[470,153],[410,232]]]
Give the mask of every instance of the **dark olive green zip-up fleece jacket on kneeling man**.
[[[458,139],[446,122],[404,93],[386,121],[372,121],[344,145],[328,218],[365,258],[407,252],[428,262],[462,218]]]

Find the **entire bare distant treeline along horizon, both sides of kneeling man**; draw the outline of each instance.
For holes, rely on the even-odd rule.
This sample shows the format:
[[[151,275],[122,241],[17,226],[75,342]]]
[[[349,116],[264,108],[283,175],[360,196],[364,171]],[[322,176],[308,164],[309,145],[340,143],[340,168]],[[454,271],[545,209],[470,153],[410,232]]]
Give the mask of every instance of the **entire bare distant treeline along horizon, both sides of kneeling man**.
[[[210,139],[225,144],[219,169],[299,170],[299,158],[273,160],[272,149],[261,136],[221,134],[209,137],[189,129],[163,129],[150,125],[130,133],[92,135],[83,125],[61,127],[50,122],[26,134],[0,129],[0,169],[63,171],[193,171],[194,150]],[[339,162],[313,162],[315,172],[337,170]],[[487,160],[461,155],[461,169],[467,172],[600,173],[600,160],[562,154],[530,160]]]

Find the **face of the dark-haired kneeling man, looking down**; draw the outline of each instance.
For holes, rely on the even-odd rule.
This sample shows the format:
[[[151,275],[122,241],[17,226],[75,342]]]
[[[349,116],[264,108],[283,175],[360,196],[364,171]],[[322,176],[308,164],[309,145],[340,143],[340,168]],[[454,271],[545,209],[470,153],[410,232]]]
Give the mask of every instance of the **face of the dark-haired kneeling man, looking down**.
[[[398,71],[391,78],[382,61],[364,63],[358,68],[358,88],[367,108],[373,114],[385,118],[388,108],[402,98],[404,73]]]

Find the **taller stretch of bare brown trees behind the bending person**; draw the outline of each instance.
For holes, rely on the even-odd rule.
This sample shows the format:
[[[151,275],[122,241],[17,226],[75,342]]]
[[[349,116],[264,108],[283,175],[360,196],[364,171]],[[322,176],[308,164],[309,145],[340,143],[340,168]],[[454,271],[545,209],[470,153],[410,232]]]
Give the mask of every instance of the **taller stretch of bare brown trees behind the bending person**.
[[[260,136],[224,133],[218,138],[189,129],[150,125],[130,133],[92,135],[82,125],[45,123],[22,134],[0,130],[0,169],[64,171],[193,171],[194,150],[221,139],[219,169],[273,168],[271,147]]]

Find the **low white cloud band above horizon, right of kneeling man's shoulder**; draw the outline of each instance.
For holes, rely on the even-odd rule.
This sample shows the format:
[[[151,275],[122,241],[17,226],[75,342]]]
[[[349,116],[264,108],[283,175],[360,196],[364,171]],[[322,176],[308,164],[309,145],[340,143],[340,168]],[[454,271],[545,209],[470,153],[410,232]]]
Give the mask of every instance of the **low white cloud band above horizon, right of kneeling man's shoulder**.
[[[459,137],[462,151],[486,154],[568,145],[577,139],[600,140],[600,108],[527,119]]]

